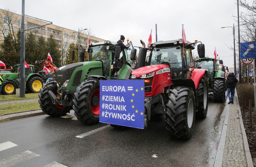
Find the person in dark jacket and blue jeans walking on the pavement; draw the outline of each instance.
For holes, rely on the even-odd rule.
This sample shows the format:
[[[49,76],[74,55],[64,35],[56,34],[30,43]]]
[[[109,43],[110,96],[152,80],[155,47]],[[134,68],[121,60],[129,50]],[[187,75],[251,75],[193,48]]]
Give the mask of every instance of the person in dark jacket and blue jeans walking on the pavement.
[[[229,98],[228,104],[232,103],[234,104],[234,94],[235,94],[235,87],[237,83],[237,78],[235,77],[232,72],[229,72],[228,77],[227,77],[227,95]]]

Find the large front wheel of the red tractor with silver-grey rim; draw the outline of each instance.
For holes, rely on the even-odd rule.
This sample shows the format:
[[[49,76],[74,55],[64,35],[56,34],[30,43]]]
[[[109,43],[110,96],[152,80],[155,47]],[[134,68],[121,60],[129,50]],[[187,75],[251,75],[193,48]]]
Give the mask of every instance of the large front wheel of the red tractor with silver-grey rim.
[[[190,87],[174,87],[166,104],[166,129],[173,138],[189,139],[195,124],[196,104]]]

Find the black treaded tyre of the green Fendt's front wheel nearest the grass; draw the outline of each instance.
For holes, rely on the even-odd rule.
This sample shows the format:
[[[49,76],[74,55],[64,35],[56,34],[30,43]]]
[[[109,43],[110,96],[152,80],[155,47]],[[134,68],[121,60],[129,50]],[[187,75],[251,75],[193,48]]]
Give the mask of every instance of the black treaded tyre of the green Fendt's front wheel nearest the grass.
[[[40,89],[40,93],[38,94],[38,102],[42,111],[52,117],[61,117],[66,115],[67,112],[70,112],[72,109],[71,106],[52,104],[52,99],[48,93],[49,90],[51,90],[57,96],[57,82],[55,79],[47,81]]]

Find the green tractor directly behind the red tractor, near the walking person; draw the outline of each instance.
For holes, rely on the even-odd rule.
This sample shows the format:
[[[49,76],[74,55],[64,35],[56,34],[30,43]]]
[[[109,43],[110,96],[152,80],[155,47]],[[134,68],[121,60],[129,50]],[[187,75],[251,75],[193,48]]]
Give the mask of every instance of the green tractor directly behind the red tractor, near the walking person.
[[[197,59],[197,68],[206,69],[208,71],[208,90],[213,93],[214,102],[222,103],[225,100],[226,80],[225,72],[223,72],[214,58],[199,58]],[[219,64],[223,64],[219,60]]]

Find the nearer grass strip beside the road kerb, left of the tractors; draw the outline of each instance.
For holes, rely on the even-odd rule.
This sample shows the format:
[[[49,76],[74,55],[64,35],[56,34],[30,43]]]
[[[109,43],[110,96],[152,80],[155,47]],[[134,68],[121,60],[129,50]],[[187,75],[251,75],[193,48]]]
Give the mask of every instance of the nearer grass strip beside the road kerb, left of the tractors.
[[[14,113],[14,112],[21,112],[21,111],[36,110],[36,109],[40,109],[38,102],[12,104],[12,105],[1,106],[0,115]]]

